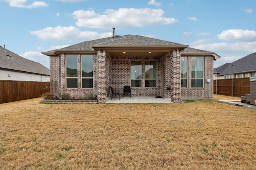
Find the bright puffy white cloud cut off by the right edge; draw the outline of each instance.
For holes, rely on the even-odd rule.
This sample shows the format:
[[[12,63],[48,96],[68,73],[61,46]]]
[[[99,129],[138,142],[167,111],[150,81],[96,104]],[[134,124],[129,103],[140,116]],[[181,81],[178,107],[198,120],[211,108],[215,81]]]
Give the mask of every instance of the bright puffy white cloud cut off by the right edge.
[[[217,37],[225,41],[256,41],[256,31],[228,29],[218,34]]]

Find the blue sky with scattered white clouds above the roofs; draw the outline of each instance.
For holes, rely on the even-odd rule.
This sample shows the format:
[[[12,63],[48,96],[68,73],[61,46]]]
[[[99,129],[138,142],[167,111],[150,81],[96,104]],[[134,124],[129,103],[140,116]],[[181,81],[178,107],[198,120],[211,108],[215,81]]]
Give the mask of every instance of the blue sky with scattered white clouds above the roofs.
[[[48,68],[41,52],[110,37],[112,27],[213,51],[214,68],[256,52],[255,0],[0,0],[0,14],[0,45]]]

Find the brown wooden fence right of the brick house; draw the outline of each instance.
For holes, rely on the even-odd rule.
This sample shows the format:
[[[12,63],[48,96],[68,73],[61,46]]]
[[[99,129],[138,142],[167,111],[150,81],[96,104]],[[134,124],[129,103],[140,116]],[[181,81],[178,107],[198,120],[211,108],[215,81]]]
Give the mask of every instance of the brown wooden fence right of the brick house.
[[[217,85],[217,87],[216,87]],[[250,78],[214,80],[214,94],[241,97],[250,94]]]

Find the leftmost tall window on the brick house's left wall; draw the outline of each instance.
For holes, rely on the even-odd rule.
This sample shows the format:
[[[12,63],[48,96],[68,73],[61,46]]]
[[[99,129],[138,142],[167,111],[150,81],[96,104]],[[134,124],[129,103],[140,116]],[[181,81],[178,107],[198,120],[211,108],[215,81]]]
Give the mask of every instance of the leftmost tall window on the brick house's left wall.
[[[66,86],[77,88],[77,55],[66,55]]]

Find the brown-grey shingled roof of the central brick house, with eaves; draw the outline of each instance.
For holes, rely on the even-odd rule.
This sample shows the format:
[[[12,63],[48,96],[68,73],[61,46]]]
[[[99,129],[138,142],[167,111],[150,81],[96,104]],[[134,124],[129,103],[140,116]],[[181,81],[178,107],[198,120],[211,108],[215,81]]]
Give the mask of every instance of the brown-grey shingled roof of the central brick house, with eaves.
[[[188,45],[174,43],[170,41],[164,41],[160,39],[154,39],[150,37],[144,37],[140,35],[124,35],[124,36],[115,36],[115,39],[112,37],[96,39],[92,41],[84,41],[75,45],[64,47],[62,49],[56,49],[52,51],[44,52],[44,55],[56,55],[59,53],[86,53],[86,52],[96,52],[97,49],[104,49],[112,56],[124,56],[122,52],[124,50],[130,50],[129,53],[136,53],[136,56],[139,56],[140,52],[143,50],[143,56],[152,56],[158,55],[161,56],[163,53],[170,53],[170,49],[180,49],[181,54],[189,55],[213,55],[215,59],[219,59],[220,56],[216,55],[210,51],[204,51],[200,49],[189,48]],[[145,50],[154,50],[154,54],[147,54],[149,51]],[[123,51],[122,51],[123,50]],[[140,51],[139,51],[140,50]],[[126,54],[127,56],[128,54]]]

